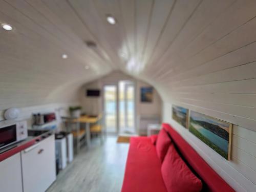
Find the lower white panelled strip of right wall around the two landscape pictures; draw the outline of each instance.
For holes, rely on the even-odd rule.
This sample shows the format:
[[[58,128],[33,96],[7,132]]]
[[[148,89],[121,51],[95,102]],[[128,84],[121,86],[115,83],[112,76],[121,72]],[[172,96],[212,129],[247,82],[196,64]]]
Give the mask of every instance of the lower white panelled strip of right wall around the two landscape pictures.
[[[196,106],[174,102],[204,113]],[[256,191],[256,132],[234,125],[231,160],[227,161],[172,119],[172,104],[164,103],[164,121],[173,125],[185,140],[236,191]],[[207,113],[211,115],[210,113]],[[211,115],[211,116],[214,116]],[[222,118],[223,119],[223,118]]]

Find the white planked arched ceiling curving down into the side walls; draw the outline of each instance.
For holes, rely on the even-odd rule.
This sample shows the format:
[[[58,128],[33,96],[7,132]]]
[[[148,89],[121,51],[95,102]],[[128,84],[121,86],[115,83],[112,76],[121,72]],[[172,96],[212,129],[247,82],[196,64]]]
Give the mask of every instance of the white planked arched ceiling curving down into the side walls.
[[[155,86],[164,120],[234,189],[256,191],[255,10],[254,0],[3,0],[0,20],[14,30],[0,29],[0,114],[16,106],[29,118],[58,108],[51,103],[77,102],[86,82],[120,70]],[[109,13],[116,25],[106,22]],[[172,103],[235,124],[232,160],[172,121]]]

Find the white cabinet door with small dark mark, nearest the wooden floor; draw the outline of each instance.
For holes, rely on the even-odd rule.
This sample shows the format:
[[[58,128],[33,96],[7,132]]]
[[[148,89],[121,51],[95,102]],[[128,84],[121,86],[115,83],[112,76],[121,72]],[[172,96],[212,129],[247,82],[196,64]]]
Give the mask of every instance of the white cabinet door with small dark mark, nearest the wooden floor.
[[[56,179],[54,135],[22,151],[24,192],[44,192]]]

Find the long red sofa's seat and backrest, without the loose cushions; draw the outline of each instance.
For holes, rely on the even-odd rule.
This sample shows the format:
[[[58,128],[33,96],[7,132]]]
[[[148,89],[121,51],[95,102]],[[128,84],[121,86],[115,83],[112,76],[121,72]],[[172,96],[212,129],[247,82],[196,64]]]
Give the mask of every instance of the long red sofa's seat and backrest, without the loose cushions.
[[[167,123],[162,124],[176,150],[195,175],[202,180],[202,191],[234,191],[201,156]],[[150,137],[132,137],[126,162],[122,192],[167,192],[161,162]]]

